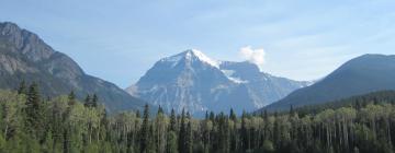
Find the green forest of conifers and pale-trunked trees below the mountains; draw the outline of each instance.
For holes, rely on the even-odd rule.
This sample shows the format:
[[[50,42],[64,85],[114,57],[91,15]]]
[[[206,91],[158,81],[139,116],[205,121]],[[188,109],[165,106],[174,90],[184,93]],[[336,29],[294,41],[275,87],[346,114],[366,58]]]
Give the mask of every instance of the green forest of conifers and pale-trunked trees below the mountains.
[[[21,85],[22,86],[22,85]],[[371,103],[320,113],[194,119],[187,111],[108,116],[100,97],[43,98],[37,85],[0,92],[2,153],[392,153],[395,105]],[[382,99],[385,101],[385,99]],[[364,103],[364,102],[361,102]]]

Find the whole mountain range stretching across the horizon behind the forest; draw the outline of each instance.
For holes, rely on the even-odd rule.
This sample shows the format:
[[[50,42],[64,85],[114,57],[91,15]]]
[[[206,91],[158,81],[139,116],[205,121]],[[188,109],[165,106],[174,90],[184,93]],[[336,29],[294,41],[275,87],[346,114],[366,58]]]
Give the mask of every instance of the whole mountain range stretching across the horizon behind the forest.
[[[98,94],[110,111],[140,109],[145,103],[193,115],[205,111],[287,110],[376,91],[395,90],[395,56],[364,55],[326,78],[293,81],[262,72],[250,62],[213,60],[194,49],[163,58],[126,89],[88,75],[68,56],[16,24],[0,23],[0,89],[33,81],[46,96]],[[155,108],[154,108],[155,109]]]

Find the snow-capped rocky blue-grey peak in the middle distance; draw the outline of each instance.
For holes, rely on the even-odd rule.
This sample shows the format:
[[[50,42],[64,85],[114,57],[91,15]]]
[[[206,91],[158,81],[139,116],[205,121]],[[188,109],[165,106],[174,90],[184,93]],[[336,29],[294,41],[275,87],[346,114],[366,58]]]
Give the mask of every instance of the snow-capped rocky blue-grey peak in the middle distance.
[[[263,73],[250,62],[217,61],[190,49],[159,60],[126,91],[168,110],[202,115],[253,110],[306,85]]]

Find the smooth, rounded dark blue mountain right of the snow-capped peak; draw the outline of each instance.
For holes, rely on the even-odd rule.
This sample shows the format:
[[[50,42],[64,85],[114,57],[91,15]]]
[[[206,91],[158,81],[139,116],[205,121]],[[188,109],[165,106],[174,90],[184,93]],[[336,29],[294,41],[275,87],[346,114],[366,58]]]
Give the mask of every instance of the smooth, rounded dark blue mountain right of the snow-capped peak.
[[[321,104],[383,90],[395,90],[395,56],[364,55],[346,62],[314,85],[300,89],[263,109],[286,110],[291,105]]]

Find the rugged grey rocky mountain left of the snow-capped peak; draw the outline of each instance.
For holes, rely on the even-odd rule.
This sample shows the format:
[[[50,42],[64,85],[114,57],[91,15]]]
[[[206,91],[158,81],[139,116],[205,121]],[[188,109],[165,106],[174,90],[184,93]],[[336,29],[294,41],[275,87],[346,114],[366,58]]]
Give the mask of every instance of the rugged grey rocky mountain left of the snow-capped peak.
[[[145,103],[110,82],[86,74],[71,58],[55,51],[36,34],[14,23],[0,23],[0,89],[14,90],[22,80],[37,82],[46,96],[72,90],[79,98],[95,93],[110,111],[139,109]]]

